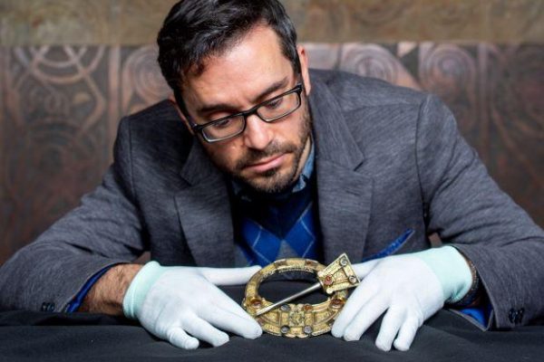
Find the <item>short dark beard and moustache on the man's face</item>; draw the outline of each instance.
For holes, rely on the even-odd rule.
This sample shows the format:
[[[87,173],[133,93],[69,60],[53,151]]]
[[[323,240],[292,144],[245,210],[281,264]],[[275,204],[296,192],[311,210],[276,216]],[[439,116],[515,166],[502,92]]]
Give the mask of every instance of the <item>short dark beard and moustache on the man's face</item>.
[[[239,182],[249,186],[254,191],[267,194],[277,194],[287,191],[293,186],[299,176],[298,171],[302,169],[300,163],[304,154],[306,144],[311,134],[311,117],[307,100],[304,100],[302,114],[302,125],[298,131],[297,144],[294,142],[279,143],[276,140],[270,142],[265,149],[248,149],[245,155],[238,159],[234,168],[228,174]],[[284,172],[279,167],[268,169],[257,177],[246,177],[242,175],[245,167],[257,163],[266,157],[273,157],[281,154],[292,154],[293,162]]]

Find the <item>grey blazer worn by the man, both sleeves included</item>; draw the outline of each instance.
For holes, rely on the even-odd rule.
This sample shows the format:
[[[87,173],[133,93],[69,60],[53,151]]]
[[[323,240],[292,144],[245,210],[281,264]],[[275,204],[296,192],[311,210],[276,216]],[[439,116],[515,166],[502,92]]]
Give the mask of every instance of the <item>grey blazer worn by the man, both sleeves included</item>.
[[[416,252],[439,233],[476,266],[496,327],[542,319],[544,233],[491,180],[442,102],[342,72],[311,77],[322,262],[341,252],[360,261],[407,229],[398,253]],[[146,250],[163,265],[234,263],[225,176],[167,100],[122,119],[102,185],[5,262],[0,308],[63,310],[94,273]]]

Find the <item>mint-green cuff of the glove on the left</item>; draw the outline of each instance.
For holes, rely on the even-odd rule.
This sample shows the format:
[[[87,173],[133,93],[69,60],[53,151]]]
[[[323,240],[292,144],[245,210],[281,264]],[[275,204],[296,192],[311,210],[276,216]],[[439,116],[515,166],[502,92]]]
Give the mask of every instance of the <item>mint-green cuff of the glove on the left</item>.
[[[138,318],[143,300],[164,271],[158,262],[148,262],[138,271],[122,300],[122,312],[126,318]]]

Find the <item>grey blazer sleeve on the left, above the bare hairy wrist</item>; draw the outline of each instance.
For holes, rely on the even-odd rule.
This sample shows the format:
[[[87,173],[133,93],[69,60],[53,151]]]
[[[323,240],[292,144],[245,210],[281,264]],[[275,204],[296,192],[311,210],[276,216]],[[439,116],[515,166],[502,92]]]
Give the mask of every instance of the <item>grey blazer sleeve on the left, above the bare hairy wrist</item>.
[[[0,268],[0,310],[65,310],[95,273],[141,255],[141,224],[132,191],[130,121],[121,119],[114,162],[102,184]]]

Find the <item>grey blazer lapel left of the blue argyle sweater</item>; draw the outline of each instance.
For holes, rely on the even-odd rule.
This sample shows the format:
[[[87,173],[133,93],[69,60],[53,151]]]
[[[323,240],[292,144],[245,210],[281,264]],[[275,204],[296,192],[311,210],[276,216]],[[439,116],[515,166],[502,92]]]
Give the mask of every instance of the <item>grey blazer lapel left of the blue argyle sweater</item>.
[[[195,141],[180,171],[189,186],[177,195],[176,207],[192,256],[199,266],[234,264],[228,190],[219,170]]]

